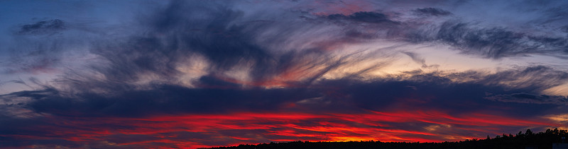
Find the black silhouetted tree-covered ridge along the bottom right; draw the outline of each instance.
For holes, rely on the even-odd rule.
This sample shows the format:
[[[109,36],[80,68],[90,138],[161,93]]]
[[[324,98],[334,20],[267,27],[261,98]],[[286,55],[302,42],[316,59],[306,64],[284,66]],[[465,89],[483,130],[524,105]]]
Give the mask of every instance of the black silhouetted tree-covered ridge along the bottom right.
[[[286,143],[261,143],[257,145],[238,145],[217,148],[552,148],[553,143],[567,142],[567,130],[550,130],[533,133],[528,129],[525,133],[519,131],[513,134],[503,134],[486,139],[472,139],[457,142],[420,143],[420,142],[381,142],[381,141],[350,141],[350,142],[308,142],[295,141]],[[562,145],[562,144],[557,144]],[[564,147],[564,146],[562,146]]]

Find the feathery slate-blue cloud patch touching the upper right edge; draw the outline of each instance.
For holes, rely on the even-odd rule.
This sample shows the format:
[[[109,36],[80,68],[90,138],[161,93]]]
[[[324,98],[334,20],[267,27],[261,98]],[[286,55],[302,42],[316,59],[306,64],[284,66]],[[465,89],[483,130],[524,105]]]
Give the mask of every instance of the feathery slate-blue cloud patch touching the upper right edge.
[[[468,54],[498,59],[523,54],[564,54],[567,40],[562,37],[540,37],[504,28],[471,28],[469,23],[446,22],[435,34],[436,40]]]

